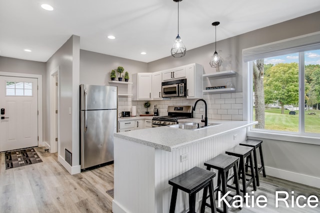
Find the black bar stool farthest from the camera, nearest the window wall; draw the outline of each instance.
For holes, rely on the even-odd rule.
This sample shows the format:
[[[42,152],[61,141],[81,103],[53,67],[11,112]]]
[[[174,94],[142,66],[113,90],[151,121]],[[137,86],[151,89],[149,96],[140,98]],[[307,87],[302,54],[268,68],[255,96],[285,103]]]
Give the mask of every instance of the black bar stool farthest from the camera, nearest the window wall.
[[[259,181],[259,173],[262,171],[263,177],[265,178],[265,169],[264,169],[264,161],[263,161],[263,154],[262,154],[262,141],[261,140],[252,140],[247,139],[240,143],[241,146],[247,146],[253,148],[253,161],[254,161],[254,171],[255,171],[255,181],[256,186],[260,186]],[[260,161],[261,161],[261,167],[258,168],[258,161],[256,157],[256,150],[259,149],[260,154]]]

